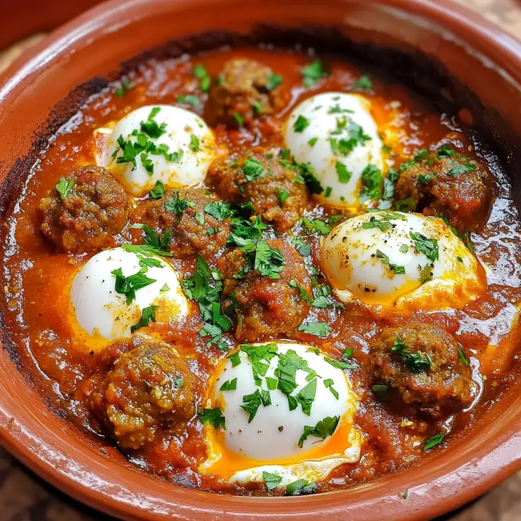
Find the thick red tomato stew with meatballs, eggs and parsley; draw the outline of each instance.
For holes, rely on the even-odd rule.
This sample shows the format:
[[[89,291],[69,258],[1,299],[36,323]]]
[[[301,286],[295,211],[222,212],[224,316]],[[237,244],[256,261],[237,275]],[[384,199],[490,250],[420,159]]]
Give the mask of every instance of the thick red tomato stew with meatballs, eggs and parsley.
[[[520,221],[472,119],[302,51],[145,61],[49,136],[3,222],[20,362],[187,487],[436,457],[517,374]]]

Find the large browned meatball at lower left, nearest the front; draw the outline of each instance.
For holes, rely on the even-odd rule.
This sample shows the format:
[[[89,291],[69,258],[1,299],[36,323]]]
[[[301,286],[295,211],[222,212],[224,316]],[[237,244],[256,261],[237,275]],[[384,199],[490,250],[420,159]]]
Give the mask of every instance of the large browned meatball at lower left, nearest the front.
[[[152,443],[160,428],[194,416],[194,377],[175,350],[121,340],[102,354],[105,365],[114,355],[113,363],[91,378],[90,405],[121,448],[139,449]]]

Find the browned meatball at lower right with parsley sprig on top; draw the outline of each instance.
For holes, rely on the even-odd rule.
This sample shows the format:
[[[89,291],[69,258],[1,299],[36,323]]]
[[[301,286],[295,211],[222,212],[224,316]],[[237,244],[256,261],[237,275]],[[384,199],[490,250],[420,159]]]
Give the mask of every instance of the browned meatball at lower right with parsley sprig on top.
[[[403,401],[433,417],[473,400],[475,384],[460,344],[443,329],[410,324],[382,331],[371,342],[369,369]],[[463,351],[462,351],[463,353]]]

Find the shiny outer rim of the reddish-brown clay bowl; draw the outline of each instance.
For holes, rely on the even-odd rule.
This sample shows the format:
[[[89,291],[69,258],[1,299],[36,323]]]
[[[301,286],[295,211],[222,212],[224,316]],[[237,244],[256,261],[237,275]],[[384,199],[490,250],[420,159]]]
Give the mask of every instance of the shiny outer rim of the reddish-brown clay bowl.
[[[116,17],[121,20],[121,16],[126,16],[125,11],[134,11],[140,5],[145,5],[150,0],[111,0],[104,4],[93,7],[82,15],[66,23],[53,33],[46,36],[39,44],[30,51],[24,53],[0,76],[0,113],[3,106],[9,100],[9,94],[15,90],[17,85],[27,80],[39,68],[45,69],[48,61],[56,59],[67,49],[73,47],[76,42],[88,38],[102,27],[107,27],[108,23],[114,21]],[[187,3],[187,0],[153,0],[156,4]],[[207,0],[218,3],[220,0]],[[349,0],[348,0],[349,1]],[[521,84],[521,43],[514,40],[494,24],[482,19],[473,11],[460,5],[452,3],[450,0],[371,0],[374,4],[381,4],[386,7],[400,9],[412,16],[420,16],[439,26],[450,28],[451,32],[464,35],[462,40],[472,42],[478,51],[487,51],[489,56],[493,56],[494,65],[497,65],[511,76],[518,84]],[[9,398],[7,397],[7,400]],[[7,414],[3,402],[5,398],[0,396],[0,442],[11,454],[15,455],[22,463],[27,465],[33,472],[51,483],[61,491],[71,497],[82,501],[90,506],[96,507],[105,513],[118,516],[124,519],[154,519],[163,520],[181,516],[190,511],[193,503],[193,515],[197,512],[203,514],[204,518],[212,518],[212,513],[216,512],[216,506],[221,503],[224,510],[221,510],[219,518],[233,519],[320,519],[329,513],[327,502],[320,501],[319,498],[330,496],[330,494],[342,494],[343,492],[330,492],[327,494],[312,495],[301,498],[245,498],[234,496],[215,495],[208,492],[184,490],[182,494],[176,492],[176,486],[172,489],[171,503],[168,512],[151,512],[147,506],[139,503],[123,501],[121,494],[117,492],[107,494],[96,488],[89,487],[88,483],[78,482],[70,475],[56,467],[53,460],[53,447],[51,444],[42,442],[40,450],[34,451],[29,443],[31,433],[36,433],[38,425],[32,420],[26,425],[21,425],[20,429],[10,429],[12,418]],[[521,416],[521,414],[519,415]],[[487,491],[501,480],[521,468],[521,445],[516,442],[516,438],[521,435],[521,420],[513,421],[510,430],[504,428],[498,432],[498,441],[491,446],[490,453],[482,451],[473,460],[475,467],[465,474],[461,467],[453,466],[449,472],[440,476],[436,483],[424,485],[421,498],[418,502],[403,501],[398,495],[387,495],[376,500],[362,500],[356,504],[350,504],[349,500],[342,501],[342,510],[334,510],[330,516],[332,521],[345,518],[346,508],[353,508],[354,519],[369,519],[376,515],[376,510],[372,510],[378,503],[382,519],[426,519],[440,515],[452,508],[456,508]],[[36,439],[36,436],[32,437]],[[490,456],[490,457],[487,457]],[[93,472],[96,472],[95,467]],[[133,470],[123,470],[121,472],[134,472]],[[474,472],[472,478],[470,473]],[[476,479],[476,473],[478,478]],[[392,476],[390,478],[392,481]],[[115,482],[117,485],[117,481]],[[449,491],[440,494],[440,486],[450,487]],[[468,486],[466,486],[468,485]],[[128,491],[128,489],[127,489]],[[151,490],[153,493],[153,490]],[[178,496],[176,498],[176,495]],[[331,497],[332,499],[332,497]],[[301,501],[307,505],[307,513],[294,513],[292,506],[296,507],[296,501]],[[259,510],[254,514],[245,513],[244,507],[247,502],[259,505]],[[285,504],[285,508],[282,504]],[[268,504],[279,505],[280,513],[275,510],[267,513],[263,508]],[[150,506],[150,505],[148,505]],[[289,506],[289,508],[288,508]],[[183,507],[183,509],[181,508]],[[247,510],[247,509],[246,509]],[[263,511],[264,510],[264,511]],[[296,509],[295,509],[296,510]],[[364,512],[365,511],[365,512]],[[372,512],[372,514],[371,514]],[[332,513],[332,512],[331,512]],[[208,517],[210,516],[210,517]],[[367,517],[369,516],[369,517]],[[185,517],[189,519],[192,517]],[[199,518],[199,517],[194,517]]]

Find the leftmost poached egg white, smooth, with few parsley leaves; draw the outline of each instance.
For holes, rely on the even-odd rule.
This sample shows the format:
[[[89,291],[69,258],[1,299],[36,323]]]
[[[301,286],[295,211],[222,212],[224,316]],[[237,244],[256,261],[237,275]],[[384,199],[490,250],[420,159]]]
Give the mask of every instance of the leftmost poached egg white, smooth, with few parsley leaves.
[[[162,267],[146,268],[146,277],[155,282],[136,290],[129,305],[126,296],[116,292],[116,276],[111,272],[121,268],[123,276],[133,275],[143,269],[139,264],[143,257],[117,247],[97,253],[78,269],[70,286],[70,321],[79,345],[103,346],[130,337],[131,326],[148,306],[159,306],[155,312],[159,321],[187,316],[188,301],[178,275],[163,259],[157,258]]]

